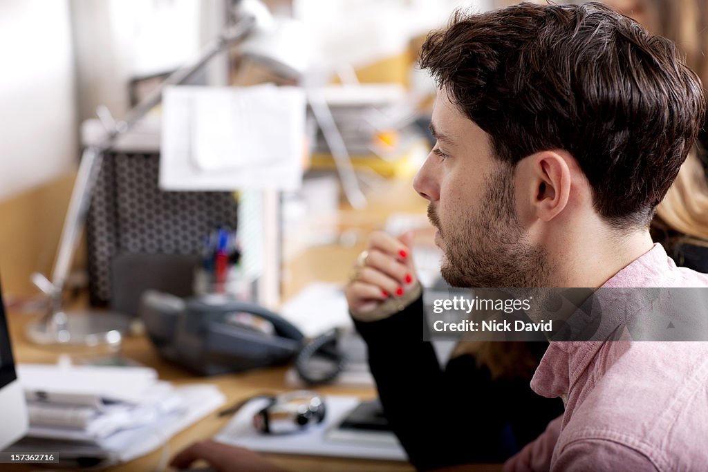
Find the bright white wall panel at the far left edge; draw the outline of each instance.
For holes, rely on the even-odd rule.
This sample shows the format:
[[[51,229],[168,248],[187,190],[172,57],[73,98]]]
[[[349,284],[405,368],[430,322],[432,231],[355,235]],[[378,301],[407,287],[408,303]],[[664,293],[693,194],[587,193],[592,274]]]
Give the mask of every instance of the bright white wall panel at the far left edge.
[[[0,1],[0,200],[77,161],[68,0]]]

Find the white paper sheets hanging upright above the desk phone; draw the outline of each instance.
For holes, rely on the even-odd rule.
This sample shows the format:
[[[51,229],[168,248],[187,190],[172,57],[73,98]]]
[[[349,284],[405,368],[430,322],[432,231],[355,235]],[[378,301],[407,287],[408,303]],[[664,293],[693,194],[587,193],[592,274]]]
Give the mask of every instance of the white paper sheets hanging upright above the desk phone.
[[[297,190],[305,110],[292,86],[166,88],[160,188]]]

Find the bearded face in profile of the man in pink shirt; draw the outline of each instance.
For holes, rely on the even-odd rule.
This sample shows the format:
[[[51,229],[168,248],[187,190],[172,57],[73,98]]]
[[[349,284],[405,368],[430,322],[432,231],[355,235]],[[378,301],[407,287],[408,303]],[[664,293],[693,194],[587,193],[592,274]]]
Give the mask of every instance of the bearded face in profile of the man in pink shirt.
[[[496,159],[490,137],[438,91],[431,130],[438,142],[413,181],[455,287],[544,287],[546,255],[515,211],[514,168]]]

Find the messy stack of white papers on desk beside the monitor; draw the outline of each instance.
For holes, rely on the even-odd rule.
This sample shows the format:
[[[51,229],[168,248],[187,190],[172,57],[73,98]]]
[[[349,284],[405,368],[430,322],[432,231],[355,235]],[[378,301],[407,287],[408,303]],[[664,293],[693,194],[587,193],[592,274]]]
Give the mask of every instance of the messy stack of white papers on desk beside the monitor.
[[[30,430],[9,451],[55,451],[68,466],[147,454],[224,403],[212,385],[175,387],[146,367],[18,366]]]

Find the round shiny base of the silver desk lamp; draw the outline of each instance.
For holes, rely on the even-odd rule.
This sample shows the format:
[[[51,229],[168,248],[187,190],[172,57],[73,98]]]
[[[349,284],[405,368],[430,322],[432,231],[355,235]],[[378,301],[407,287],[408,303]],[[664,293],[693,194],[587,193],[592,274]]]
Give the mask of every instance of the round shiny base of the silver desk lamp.
[[[56,311],[30,324],[30,341],[41,345],[120,346],[123,335],[130,329],[131,317],[110,311]]]

